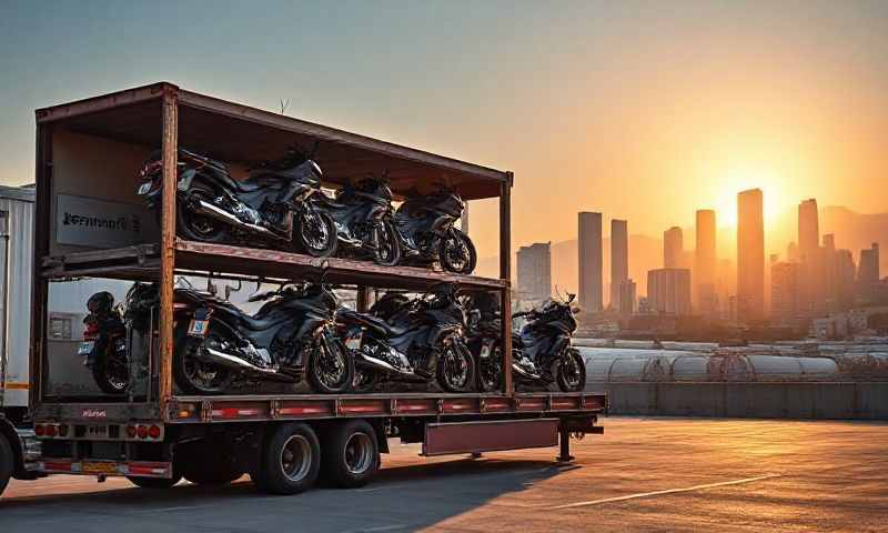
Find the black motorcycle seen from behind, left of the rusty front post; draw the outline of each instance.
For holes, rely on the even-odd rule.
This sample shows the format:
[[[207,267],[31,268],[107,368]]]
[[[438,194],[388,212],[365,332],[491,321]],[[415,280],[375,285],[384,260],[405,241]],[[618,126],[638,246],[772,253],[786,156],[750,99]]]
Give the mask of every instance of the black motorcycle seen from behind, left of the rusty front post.
[[[157,309],[157,288],[134,283],[127,292],[121,309],[107,291],[97,292],[87,300],[89,314],[83,319],[83,342],[78,355],[92,372],[95,384],[105,394],[123,394],[130,385],[130,358],[128,326],[144,335],[150,313]]]

